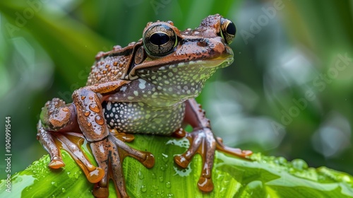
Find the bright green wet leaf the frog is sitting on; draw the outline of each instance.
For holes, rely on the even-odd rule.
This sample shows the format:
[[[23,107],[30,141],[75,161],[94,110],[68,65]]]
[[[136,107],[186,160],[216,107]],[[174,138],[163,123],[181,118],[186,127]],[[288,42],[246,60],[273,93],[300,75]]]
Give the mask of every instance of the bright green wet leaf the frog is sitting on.
[[[83,144],[85,153],[91,158]],[[254,153],[249,159],[216,152],[213,168],[215,189],[198,190],[201,157],[196,156],[188,168],[174,164],[173,157],[189,146],[187,139],[136,134],[129,144],[155,156],[155,166],[145,168],[133,158],[125,158],[126,188],[131,197],[353,197],[353,177],[329,168],[308,168],[296,159],[263,156]],[[47,167],[43,156],[25,170],[11,177],[11,192],[6,180],[0,182],[0,197],[92,197],[93,184],[86,180],[71,156],[63,151],[66,166],[59,170]],[[110,197],[116,197],[110,182]]]

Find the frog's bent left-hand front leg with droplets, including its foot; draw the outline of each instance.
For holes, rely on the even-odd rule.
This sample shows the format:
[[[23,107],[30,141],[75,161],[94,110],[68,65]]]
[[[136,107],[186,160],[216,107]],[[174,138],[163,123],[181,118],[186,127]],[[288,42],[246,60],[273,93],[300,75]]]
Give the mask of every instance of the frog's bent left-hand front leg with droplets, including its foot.
[[[119,197],[128,197],[122,171],[122,162],[126,156],[136,158],[146,168],[151,168],[155,163],[151,153],[133,149],[124,143],[126,139],[119,139],[116,137],[118,134],[109,133],[103,115],[102,101],[109,98],[111,93],[119,91],[125,83],[127,81],[86,86],[73,93],[78,125],[85,139],[90,142],[90,148],[99,167],[104,170],[104,177],[97,182],[93,190],[95,197],[109,196],[109,178],[113,179]]]

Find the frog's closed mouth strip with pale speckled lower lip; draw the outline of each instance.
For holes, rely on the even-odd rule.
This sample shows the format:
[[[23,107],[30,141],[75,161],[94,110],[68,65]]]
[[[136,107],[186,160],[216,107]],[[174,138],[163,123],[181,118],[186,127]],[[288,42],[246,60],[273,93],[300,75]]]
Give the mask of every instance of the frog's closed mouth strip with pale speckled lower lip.
[[[205,70],[205,69],[218,69],[218,68],[224,68],[226,66],[229,66],[232,64],[234,61],[233,56],[229,56],[226,58],[217,58],[217,59],[210,59],[210,60],[195,60],[195,61],[189,61],[189,62],[179,62],[173,64],[173,62],[170,62],[168,64],[163,64],[163,65],[156,65],[156,66],[150,66],[150,67],[145,67],[143,66],[142,68],[133,68],[128,74],[128,78],[130,80],[136,79],[138,77],[140,78],[145,78],[146,76],[154,75],[157,72],[163,72],[163,71],[169,71],[169,77],[172,77],[172,74],[174,75],[175,73],[178,73],[178,71],[183,71],[185,73],[188,73],[188,71],[193,70],[194,72],[197,72],[198,70]],[[181,74],[179,74],[181,75]]]

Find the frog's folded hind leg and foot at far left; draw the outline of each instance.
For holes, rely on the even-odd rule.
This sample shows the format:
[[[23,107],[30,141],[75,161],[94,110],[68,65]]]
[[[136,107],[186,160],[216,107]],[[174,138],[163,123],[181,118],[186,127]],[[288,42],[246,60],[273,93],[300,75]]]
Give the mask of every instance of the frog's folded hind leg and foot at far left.
[[[76,123],[75,106],[65,105],[63,100],[54,98],[44,105],[40,117],[37,139],[50,155],[49,168],[64,167],[60,151],[62,148],[70,153],[90,182],[100,181],[104,175],[103,170],[92,165],[80,148],[84,136]]]

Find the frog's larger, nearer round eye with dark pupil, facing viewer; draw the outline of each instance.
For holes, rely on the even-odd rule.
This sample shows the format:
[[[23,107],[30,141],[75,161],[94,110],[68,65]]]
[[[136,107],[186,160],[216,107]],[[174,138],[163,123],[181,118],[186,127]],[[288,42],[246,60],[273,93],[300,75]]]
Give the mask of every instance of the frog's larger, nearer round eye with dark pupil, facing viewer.
[[[143,45],[148,54],[164,56],[177,46],[177,35],[167,25],[153,25],[143,34]]]

